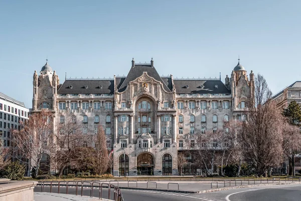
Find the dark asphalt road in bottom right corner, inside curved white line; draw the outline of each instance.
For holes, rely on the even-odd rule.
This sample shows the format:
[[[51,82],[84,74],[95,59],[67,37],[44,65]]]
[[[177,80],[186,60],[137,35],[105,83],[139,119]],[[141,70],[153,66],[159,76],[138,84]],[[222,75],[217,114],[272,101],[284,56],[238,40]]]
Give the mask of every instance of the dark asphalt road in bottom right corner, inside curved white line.
[[[301,185],[270,186],[270,188],[264,189],[241,189],[241,192],[236,192],[228,198],[230,201],[300,201]]]

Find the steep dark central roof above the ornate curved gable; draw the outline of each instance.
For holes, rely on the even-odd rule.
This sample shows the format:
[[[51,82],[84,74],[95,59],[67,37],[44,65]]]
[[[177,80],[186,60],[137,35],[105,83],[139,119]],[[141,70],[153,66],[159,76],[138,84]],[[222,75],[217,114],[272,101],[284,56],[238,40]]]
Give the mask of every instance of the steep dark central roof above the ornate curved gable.
[[[150,77],[154,77],[156,80],[161,81],[163,83],[164,89],[168,92],[171,92],[171,88],[169,88],[167,85],[168,81],[167,80],[163,81],[163,79],[157,72],[156,68],[152,67],[151,65],[147,65],[147,64],[134,65],[133,67],[131,67],[125,80],[123,81],[121,86],[118,88],[118,91],[119,92],[124,91],[126,89],[127,84],[130,81],[133,81],[134,79],[136,79],[137,77],[140,77],[143,74],[143,72],[147,72],[147,74]]]

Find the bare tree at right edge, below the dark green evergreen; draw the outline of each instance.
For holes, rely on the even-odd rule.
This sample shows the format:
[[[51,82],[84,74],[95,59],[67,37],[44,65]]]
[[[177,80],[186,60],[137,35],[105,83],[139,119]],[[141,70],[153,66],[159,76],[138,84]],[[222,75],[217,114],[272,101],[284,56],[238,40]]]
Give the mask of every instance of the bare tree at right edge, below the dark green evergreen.
[[[295,176],[294,155],[296,154],[296,150],[300,149],[301,147],[301,135],[299,127],[285,122],[282,127],[282,135],[283,153],[284,156],[288,158],[288,174]]]

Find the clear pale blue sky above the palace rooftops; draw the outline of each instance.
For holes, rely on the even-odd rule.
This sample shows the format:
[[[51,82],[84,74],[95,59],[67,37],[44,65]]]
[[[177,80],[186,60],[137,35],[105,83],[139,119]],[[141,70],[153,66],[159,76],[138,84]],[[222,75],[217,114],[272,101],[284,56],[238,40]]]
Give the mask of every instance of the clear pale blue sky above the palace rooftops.
[[[301,80],[301,1],[1,1],[0,91],[32,108],[32,75],[218,77],[237,64],[273,93]]]

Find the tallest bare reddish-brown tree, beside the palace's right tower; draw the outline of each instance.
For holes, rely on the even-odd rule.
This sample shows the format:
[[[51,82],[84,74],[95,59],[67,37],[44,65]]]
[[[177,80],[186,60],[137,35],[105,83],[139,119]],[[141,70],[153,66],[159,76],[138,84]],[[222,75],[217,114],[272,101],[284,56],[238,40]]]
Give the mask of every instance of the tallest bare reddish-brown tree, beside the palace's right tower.
[[[248,121],[242,124],[242,143],[246,159],[258,175],[266,175],[282,156],[283,117],[268,98],[271,92],[260,74],[255,81],[255,106],[248,104]]]

